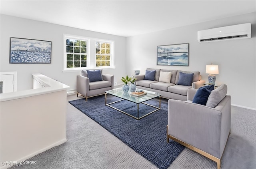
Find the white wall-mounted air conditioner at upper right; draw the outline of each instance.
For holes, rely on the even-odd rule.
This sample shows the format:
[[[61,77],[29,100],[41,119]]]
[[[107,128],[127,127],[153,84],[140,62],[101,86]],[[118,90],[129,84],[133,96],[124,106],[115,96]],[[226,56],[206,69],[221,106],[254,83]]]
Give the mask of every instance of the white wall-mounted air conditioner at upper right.
[[[246,38],[251,38],[251,23],[200,30],[197,32],[199,43]]]

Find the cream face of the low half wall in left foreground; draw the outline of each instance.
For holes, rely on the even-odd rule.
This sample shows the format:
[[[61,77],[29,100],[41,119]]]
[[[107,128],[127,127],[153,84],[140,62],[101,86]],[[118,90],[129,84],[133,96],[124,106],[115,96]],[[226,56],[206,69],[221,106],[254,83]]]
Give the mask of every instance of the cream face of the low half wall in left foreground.
[[[1,101],[0,163],[23,161],[66,142],[66,102],[66,89]]]

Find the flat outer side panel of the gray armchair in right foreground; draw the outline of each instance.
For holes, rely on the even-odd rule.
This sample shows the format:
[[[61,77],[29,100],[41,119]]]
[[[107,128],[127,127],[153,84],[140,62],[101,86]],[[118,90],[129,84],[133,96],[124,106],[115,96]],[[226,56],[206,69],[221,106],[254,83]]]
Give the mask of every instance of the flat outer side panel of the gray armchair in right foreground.
[[[221,112],[211,107],[168,100],[168,134],[220,158]]]

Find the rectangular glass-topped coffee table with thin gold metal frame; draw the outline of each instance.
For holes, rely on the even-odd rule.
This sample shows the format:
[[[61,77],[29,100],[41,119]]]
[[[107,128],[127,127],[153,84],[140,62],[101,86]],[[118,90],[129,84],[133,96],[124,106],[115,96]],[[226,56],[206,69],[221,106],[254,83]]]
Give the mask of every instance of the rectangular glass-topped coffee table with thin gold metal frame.
[[[126,114],[126,115],[129,115],[130,117],[133,117],[134,119],[137,119],[137,120],[142,119],[143,117],[146,117],[147,115],[150,115],[151,113],[154,113],[155,111],[158,111],[159,109],[161,109],[161,94],[155,93],[155,92],[152,92],[152,91],[146,91],[146,90],[144,90],[144,91],[147,92],[147,94],[146,94],[146,95],[142,95],[142,96],[132,96],[132,95],[130,95],[130,92],[127,92],[127,94],[129,94],[129,97],[127,97],[127,98],[123,96],[123,95],[124,95],[124,92],[122,91],[122,87],[121,87],[121,88],[117,88],[117,89],[113,89],[113,90],[106,91],[106,92],[105,92],[105,105],[107,105],[107,106],[109,106],[109,107],[111,107],[111,108],[113,108],[113,109],[116,109],[116,110],[118,110],[118,111],[120,111],[120,112],[122,112],[122,113],[124,113],[124,114]],[[110,95],[119,97],[119,98],[121,98],[121,99],[118,100],[118,101],[114,101],[114,102],[112,102],[112,103],[108,103],[108,104],[107,104],[107,94],[110,94]],[[130,96],[131,96],[131,97],[135,97],[135,101],[134,101],[134,100],[131,100],[131,99],[130,99]],[[154,105],[150,105],[150,104],[148,104],[148,103],[144,103],[145,101],[154,99],[154,98],[156,98],[156,97],[159,97],[159,107],[156,107],[156,106],[154,106]],[[122,100],[131,101],[131,102],[137,104],[137,115],[138,115],[138,117],[134,117],[133,115],[130,115],[129,113],[126,113],[126,112],[124,112],[124,111],[122,111],[122,110],[120,110],[120,109],[118,109],[118,108],[116,108],[116,107],[113,107],[113,106],[111,105],[111,104],[117,103],[117,102],[122,101]],[[146,115],[143,115],[142,117],[139,117],[139,104],[140,104],[140,103],[145,104],[145,105],[149,105],[149,106],[154,107],[154,108],[156,108],[156,109],[153,110],[153,111],[151,111],[150,113],[147,113]]]

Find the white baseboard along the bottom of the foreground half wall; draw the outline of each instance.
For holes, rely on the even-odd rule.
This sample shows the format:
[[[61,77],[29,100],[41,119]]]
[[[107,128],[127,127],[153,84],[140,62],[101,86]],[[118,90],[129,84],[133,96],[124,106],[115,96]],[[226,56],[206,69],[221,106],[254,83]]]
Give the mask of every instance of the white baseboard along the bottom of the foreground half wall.
[[[20,159],[18,159],[18,160],[14,160],[14,162],[15,162],[15,161],[19,161],[20,163],[22,163],[23,161],[26,161],[26,160],[29,159],[30,157],[34,157],[35,155],[37,155],[37,154],[39,154],[39,153],[42,153],[42,152],[44,152],[44,151],[46,151],[46,150],[48,150],[48,149],[51,149],[52,147],[61,145],[61,144],[65,143],[66,141],[67,141],[67,139],[62,139],[62,140],[60,140],[60,141],[58,141],[58,142],[56,142],[56,143],[54,143],[54,144],[52,144],[52,145],[49,145],[49,146],[47,146],[47,147],[45,147],[45,148],[43,148],[43,149],[40,149],[40,150],[38,150],[38,151],[36,151],[36,152],[34,152],[34,153],[31,153],[31,154],[29,154],[29,155],[27,155],[27,156],[25,156],[25,157],[22,157],[22,158],[20,158]],[[4,161],[1,161],[1,162],[3,163]],[[12,165],[14,165],[14,164],[12,164]],[[11,166],[2,166],[2,164],[0,164],[0,166],[1,166],[0,169],[7,169],[7,168],[11,167]]]

